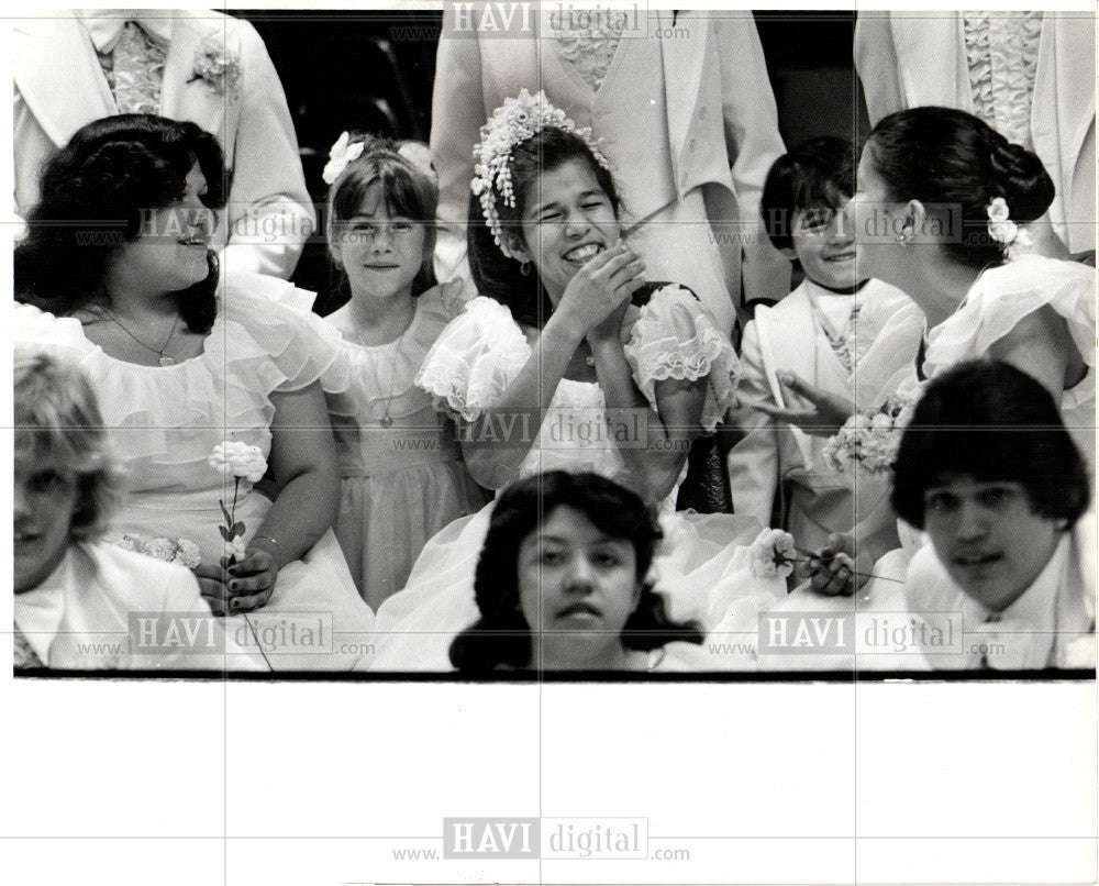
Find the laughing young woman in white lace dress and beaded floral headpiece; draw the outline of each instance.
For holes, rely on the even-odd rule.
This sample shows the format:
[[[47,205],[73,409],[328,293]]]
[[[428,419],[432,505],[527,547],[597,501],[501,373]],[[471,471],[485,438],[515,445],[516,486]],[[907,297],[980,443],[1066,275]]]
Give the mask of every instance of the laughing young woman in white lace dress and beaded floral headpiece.
[[[785,591],[780,579],[752,578],[736,544],[758,523],[688,518],[670,505],[691,441],[732,402],[739,364],[728,339],[689,290],[644,283],[621,241],[607,160],[544,95],[523,90],[497,109],[477,152],[470,266],[484,295],[444,331],[418,384],[460,419],[482,486],[593,472],[660,503],[667,544],[654,566],[671,617],[706,628],[740,619],[754,633],[758,608]],[[428,543],[406,589],[379,609],[364,666],[449,669],[451,640],[477,618],[489,508]],[[730,666],[754,662],[714,662]]]

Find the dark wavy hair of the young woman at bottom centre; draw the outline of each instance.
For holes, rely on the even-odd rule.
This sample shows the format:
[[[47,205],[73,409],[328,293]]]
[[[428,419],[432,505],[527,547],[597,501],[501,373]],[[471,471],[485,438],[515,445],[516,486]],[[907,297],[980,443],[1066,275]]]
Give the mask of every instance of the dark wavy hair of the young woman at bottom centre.
[[[663,533],[641,498],[598,474],[551,470],[520,480],[496,500],[474,579],[481,614],[451,644],[451,663],[458,671],[488,673],[501,665],[530,667],[531,628],[519,599],[519,547],[546,516],[560,507],[575,508],[601,532],[633,545],[642,591],[622,629],[626,649],[650,651],[676,640],[702,642],[697,624],[671,620],[664,595],[646,579]]]

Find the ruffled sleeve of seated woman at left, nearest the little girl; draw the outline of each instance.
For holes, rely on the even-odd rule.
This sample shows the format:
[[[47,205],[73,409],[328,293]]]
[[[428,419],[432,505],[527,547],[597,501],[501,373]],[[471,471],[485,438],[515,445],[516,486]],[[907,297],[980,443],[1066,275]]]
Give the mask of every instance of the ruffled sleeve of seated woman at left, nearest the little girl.
[[[257,278],[237,272],[222,292],[226,353],[263,376],[255,380],[264,394],[301,390],[333,370],[341,356],[340,333],[292,300],[273,300],[269,287]]]

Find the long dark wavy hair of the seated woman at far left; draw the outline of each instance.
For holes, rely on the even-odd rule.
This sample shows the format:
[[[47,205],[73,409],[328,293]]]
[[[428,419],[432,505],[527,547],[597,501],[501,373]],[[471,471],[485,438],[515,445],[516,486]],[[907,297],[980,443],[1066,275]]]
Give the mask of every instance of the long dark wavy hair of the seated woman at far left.
[[[227,182],[218,140],[195,123],[120,114],[82,126],[42,173],[41,199],[15,247],[15,298],[56,314],[102,299],[108,263],[142,234],[147,213],[178,200],[195,164],[207,180],[209,209],[225,204]],[[176,296],[192,332],[217,315],[218,259],[207,278]]]

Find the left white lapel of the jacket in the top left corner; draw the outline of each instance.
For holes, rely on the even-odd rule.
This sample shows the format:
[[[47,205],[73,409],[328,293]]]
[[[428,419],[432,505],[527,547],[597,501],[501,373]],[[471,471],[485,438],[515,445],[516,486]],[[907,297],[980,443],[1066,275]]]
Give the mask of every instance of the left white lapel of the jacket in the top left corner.
[[[58,147],[86,123],[119,112],[91,37],[75,18],[16,21],[12,69],[27,108]]]

